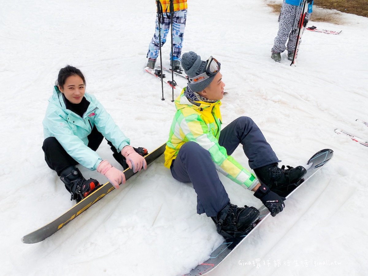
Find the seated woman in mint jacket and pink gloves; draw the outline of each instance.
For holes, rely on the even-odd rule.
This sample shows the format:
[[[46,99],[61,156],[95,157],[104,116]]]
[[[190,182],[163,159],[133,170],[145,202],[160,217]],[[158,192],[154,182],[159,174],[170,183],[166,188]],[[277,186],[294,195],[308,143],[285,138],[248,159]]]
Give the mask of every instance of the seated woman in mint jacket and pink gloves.
[[[71,200],[77,202],[100,185],[95,179],[86,180],[75,167],[78,163],[105,175],[117,189],[120,183],[125,183],[123,171],[96,153],[104,137],[123,170],[129,166],[136,172],[147,166],[142,157],[144,153],[139,155],[130,146],[130,139],[95,96],[85,93],[85,85],[79,69],[69,65],[62,68],[43,120],[45,161],[60,176],[71,193]]]

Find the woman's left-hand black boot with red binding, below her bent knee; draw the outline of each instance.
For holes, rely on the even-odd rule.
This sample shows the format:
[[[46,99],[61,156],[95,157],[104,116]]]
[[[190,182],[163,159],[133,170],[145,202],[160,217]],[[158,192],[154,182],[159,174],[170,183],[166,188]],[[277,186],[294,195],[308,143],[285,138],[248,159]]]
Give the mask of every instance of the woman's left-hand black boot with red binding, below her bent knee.
[[[86,180],[75,166],[64,170],[60,174],[60,179],[64,182],[65,188],[71,193],[70,200],[75,199],[77,203],[100,187],[100,183],[96,179]]]

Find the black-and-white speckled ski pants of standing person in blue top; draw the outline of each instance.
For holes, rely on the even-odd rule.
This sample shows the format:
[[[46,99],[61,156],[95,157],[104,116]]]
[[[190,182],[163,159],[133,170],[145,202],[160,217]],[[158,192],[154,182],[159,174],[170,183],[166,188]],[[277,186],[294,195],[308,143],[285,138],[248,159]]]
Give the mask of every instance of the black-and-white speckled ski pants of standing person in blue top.
[[[308,9],[308,7],[305,7]],[[287,51],[294,52],[295,45],[297,43],[297,35],[298,35],[298,24],[300,19],[302,7],[294,6],[285,3],[283,1],[281,7],[280,14],[280,23],[279,23],[279,31],[277,32],[277,36],[275,38],[272,52],[273,53],[282,53],[285,51],[286,41],[287,42]],[[307,13],[306,17],[309,20],[311,15]]]

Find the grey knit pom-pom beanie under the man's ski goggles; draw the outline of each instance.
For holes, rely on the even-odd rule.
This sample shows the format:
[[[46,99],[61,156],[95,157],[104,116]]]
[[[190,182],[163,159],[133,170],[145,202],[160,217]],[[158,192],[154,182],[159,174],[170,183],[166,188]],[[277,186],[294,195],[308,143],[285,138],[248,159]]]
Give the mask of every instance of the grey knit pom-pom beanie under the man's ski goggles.
[[[194,78],[204,73],[206,71],[206,64],[206,61],[201,60],[201,56],[198,56],[192,51],[184,53],[183,56],[181,56],[181,66],[189,78]],[[215,78],[215,75],[196,84],[188,82],[188,86],[194,92],[201,92],[212,82],[213,78]]]

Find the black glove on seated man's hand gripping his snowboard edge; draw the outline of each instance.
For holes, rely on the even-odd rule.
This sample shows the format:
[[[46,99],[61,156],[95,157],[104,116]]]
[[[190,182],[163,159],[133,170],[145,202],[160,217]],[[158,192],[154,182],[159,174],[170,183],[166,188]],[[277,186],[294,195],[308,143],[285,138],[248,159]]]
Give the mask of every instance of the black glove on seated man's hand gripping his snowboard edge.
[[[280,197],[275,192],[270,191],[270,188],[265,184],[254,192],[254,196],[261,199],[262,203],[269,209],[273,217],[280,213],[285,207],[284,200],[286,198]]]

